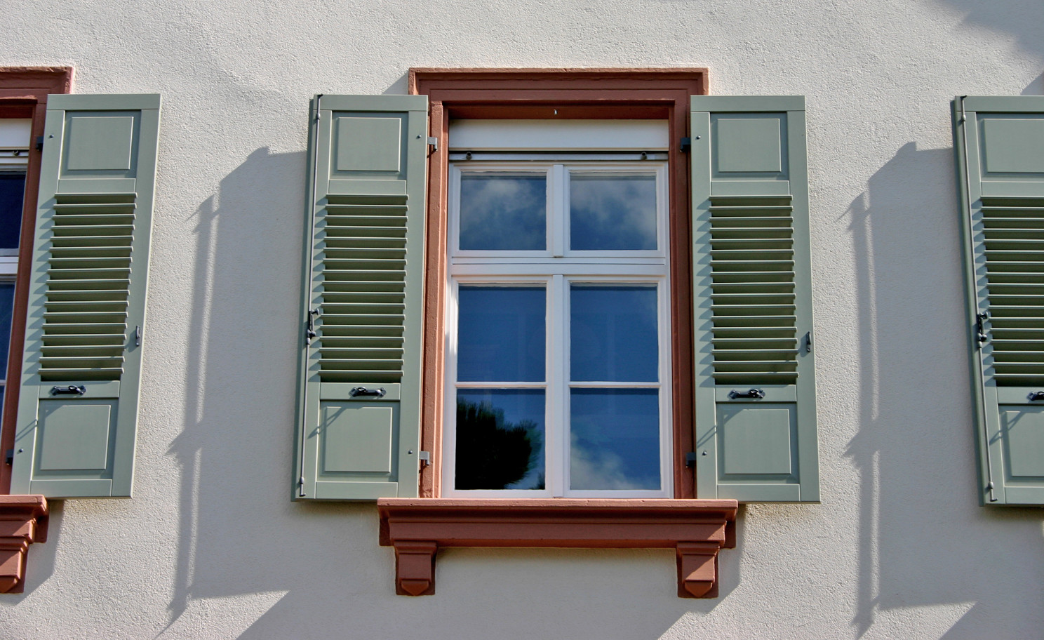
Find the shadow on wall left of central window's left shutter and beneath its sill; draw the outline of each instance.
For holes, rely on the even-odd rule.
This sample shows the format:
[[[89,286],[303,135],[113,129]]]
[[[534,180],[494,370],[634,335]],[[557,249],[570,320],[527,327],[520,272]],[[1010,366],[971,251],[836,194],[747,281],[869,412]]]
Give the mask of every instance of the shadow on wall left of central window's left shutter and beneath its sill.
[[[677,597],[670,549],[449,549],[434,596],[396,596],[373,504],[290,501],[305,160],[258,149],[194,214],[190,395],[169,450],[183,468],[176,576],[160,637],[622,640],[720,602],[738,550],[722,554],[717,600]]]

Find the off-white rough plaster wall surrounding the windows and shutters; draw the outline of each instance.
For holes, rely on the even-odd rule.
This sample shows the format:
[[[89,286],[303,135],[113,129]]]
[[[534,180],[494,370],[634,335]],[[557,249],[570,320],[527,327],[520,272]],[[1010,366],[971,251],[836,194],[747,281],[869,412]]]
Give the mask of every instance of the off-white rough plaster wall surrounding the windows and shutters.
[[[163,94],[133,500],[54,504],[3,638],[1036,638],[1042,509],[975,499],[948,100],[1044,93],[1040,0],[0,0],[0,65]],[[292,504],[306,111],[409,67],[706,66],[804,94],[823,503],[669,551],[443,551],[396,596],[369,505]]]

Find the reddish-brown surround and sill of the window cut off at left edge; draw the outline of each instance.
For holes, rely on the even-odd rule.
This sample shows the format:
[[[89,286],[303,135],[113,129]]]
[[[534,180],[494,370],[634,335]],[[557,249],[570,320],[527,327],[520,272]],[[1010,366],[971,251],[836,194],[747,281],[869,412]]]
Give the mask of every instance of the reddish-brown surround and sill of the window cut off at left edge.
[[[48,94],[69,93],[72,74],[72,67],[0,67],[0,118],[31,118],[30,141],[37,140],[44,135]],[[32,246],[41,156],[37,145],[30,144],[22,207],[20,246],[23,247]],[[0,465],[0,593],[22,593],[29,545],[47,539],[47,500],[43,496],[6,495],[10,493],[11,470],[6,452],[15,446],[31,262],[31,251],[19,253],[10,352],[6,362],[8,383],[4,387],[3,414],[0,419],[0,453],[5,454]]]

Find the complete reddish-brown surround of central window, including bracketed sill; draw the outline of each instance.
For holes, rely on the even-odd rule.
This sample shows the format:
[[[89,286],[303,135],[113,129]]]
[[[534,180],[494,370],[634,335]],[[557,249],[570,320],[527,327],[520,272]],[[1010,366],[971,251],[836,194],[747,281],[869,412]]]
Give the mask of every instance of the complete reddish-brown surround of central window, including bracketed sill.
[[[735,546],[735,500],[695,500],[691,329],[689,96],[706,69],[411,69],[409,93],[428,96],[429,157],[421,498],[382,498],[380,544],[396,550],[396,592],[434,593],[440,547],[673,548],[681,597],[717,596],[717,552]],[[670,499],[441,498],[446,325],[449,122],[471,119],[662,119],[668,122],[668,229],[673,425]]]

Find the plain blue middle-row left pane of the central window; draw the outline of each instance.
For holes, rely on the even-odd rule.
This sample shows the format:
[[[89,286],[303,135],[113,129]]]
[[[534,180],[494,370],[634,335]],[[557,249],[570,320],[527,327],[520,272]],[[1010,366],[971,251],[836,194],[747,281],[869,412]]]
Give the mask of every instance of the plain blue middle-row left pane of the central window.
[[[544,287],[461,286],[457,380],[544,380]]]

